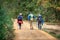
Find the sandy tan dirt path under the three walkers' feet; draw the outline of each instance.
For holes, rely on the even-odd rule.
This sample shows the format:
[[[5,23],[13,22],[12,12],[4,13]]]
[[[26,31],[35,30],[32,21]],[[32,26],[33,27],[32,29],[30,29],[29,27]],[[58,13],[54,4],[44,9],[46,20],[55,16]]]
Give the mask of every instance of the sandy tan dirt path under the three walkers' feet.
[[[15,20],[14,29],[15,29],[15,38],[14,40],[57,40],[48,33],[38,30],[36,25],[33,25],[34,30],[30,30],[29,23],[24,21],[22,29],[19,30],[18,24]]]

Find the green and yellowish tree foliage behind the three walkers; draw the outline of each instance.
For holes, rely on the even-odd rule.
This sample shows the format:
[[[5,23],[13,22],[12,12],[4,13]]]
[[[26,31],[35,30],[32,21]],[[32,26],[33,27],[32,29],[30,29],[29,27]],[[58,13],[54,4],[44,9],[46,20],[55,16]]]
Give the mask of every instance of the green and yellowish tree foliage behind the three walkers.
[[[38,16],[39,13],[42,14],[45,21],[55,22],[60,19],[59,11],[55,8],[60,5],[59,3],[60,1],[57,0],[5,0],[3,7],[12,14],[13,18],[17,18],[21,12],[24,19],[27,19],[27,15],[31,11],[35,16]]]

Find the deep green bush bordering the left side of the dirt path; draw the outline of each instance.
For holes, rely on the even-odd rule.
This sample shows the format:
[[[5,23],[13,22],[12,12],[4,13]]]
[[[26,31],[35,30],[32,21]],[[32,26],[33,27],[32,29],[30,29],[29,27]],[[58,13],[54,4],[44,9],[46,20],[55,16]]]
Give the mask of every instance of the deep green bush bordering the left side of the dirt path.
[[[0,6],[0,40],[12,40],[13,39],[13,26],[11,17]]]

